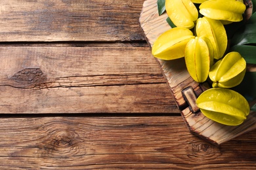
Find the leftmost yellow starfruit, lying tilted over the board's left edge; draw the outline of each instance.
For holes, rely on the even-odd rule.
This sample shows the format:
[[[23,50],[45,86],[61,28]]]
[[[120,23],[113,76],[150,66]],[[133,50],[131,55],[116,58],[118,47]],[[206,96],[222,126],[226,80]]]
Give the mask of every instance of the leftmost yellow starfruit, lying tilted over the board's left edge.
[[[174,27],[162,33],[152,46],[156,58],[171,60],[184,57],[186,44],[194,35],[190,29]]]

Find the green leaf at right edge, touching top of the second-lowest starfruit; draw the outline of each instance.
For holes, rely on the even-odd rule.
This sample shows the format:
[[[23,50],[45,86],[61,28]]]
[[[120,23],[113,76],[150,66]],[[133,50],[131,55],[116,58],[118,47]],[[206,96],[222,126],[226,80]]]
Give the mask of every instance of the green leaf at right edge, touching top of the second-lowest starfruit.
[[[239,52],[246,63],[256,64],[256,46],[235,45],[230,48],[230,52]]]

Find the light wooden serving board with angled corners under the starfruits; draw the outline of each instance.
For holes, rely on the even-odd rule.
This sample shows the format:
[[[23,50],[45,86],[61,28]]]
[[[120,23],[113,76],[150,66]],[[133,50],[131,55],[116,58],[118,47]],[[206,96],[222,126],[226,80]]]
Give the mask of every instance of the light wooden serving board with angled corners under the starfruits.
[[[166,18],[166,12],[161,16],[158,15],[157,0],[144,1],[139,23],[150,47],[161,33],[171,29]],[[156,61],[160,65],[177,107],[181,110],[182,118],[191,133],[219,145],[256,129],[256,112],[250,112],[240,126],[225,126],[206,118],[198,109],[195,101],[200,93],[210,88],[209,84],[199,84],[190,77],[184,58],[171,61],[156,58]]]

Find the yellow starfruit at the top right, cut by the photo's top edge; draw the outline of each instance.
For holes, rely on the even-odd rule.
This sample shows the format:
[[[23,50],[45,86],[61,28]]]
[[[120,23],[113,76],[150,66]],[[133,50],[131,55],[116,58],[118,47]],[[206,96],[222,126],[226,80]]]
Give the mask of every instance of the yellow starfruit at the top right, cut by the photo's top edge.
[[[209,0],[203,2],[199,7],[199,12],[207,18],[214,20],[226,20],[230,22],[240,22],[243,20],[242,14],[246,7],[244,3],[234,0]]]

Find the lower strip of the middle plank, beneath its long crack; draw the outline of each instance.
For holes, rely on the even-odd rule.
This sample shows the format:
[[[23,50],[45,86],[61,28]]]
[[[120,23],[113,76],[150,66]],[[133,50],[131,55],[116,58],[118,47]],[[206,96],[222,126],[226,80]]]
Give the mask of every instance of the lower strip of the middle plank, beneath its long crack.
[[[0,89],[2,114],[179,112],[165,84]]]

